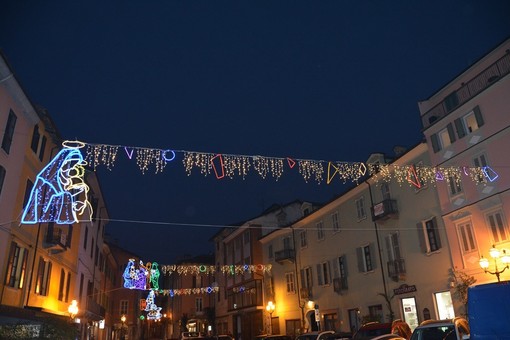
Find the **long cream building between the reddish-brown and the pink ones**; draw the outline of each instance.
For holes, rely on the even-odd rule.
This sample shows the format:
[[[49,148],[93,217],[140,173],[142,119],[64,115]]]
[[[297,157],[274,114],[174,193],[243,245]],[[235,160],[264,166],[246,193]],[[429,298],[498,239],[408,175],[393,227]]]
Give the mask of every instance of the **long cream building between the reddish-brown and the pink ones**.
[[[416,327],[458,313],[437,194],[408,181],[410,169],[430,165],[427,145],[390,163],[373,154],[367,164],[381,171],[261,239],[273,264],[273,318],[286,334],[396,318]]]

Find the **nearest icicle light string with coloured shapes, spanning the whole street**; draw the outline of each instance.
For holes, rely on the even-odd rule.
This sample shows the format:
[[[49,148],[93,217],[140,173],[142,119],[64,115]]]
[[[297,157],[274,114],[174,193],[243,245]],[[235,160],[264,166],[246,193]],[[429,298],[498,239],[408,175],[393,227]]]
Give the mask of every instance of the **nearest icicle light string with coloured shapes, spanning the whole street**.
[[[82,142],[80,142],[82,143]],[[182,164],[188,176],[194,170],[203,176],[214,174],[217,179],[236,176],[243,180],[253,169],[262,179],[272,177],[276,181],[286,171],[297,171],[305,182],[315,181],[331,184],[337,180],[342,183],[358,183],[365,175],[372,176],[376,181],[396,181],[400,185],[407,184],[420,188],[427,183],[438,181],[460,182],[464,178],[476,184],[486,184],[498,178],[498,174],[489,166],[484,167],[432,167],[424,165],[365,164],[363,162],[324,161],[296,159],[292,157],[278,158],[266,156],[248,156],[220,153],[207,153],[185,150],[153,149],[132,146],[89,144],[86,145],[85,160],[95,170],[104,165],[112,170],[119,155],[124,150],[128,159],[135,159],[140,171],[145,174],[150,168],[155,173],[163,172],[169,162],[182,154]],[[122,154],[122,152],[121,152]]]

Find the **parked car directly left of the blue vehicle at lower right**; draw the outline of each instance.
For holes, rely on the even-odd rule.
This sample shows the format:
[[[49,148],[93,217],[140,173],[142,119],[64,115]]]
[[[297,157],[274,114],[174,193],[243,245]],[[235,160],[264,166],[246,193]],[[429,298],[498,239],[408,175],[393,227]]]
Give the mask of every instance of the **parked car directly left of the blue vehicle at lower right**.
[[[423,321],[413,331],[411,340],[461,340],[469,339],[469,324],[464,318]]]

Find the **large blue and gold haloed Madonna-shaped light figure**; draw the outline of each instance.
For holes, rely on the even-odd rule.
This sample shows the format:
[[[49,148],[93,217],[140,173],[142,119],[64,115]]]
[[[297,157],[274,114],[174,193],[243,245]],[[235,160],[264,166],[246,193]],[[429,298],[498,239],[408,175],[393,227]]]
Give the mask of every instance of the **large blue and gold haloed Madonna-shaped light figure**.
[[[66,141],[62,145],[64,148],[37,175],[21,223],[91,221],[93,210],[84,180],[87,163],[80,152],[85,143]]]

